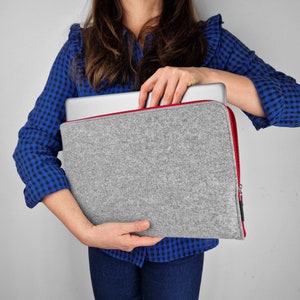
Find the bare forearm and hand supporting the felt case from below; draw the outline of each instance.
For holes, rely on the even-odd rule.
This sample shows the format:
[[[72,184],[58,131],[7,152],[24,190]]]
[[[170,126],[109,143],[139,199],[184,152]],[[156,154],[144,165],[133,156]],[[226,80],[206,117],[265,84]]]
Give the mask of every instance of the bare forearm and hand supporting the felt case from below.
[[[149,228],[150,223],[145,220],[93,225],[83,214],[68,189],[46,196],[43,203],[80,242],[87,246],[132,251],[135,247],[155,245],[162,239],[132,234]]]

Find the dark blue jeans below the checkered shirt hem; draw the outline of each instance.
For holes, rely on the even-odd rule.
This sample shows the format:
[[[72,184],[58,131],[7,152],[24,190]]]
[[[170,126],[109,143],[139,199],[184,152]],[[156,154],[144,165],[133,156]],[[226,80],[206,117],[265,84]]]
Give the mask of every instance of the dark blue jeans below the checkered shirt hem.
[[[142,268],[89,248],[96,300],[198,300],[203,253]]]

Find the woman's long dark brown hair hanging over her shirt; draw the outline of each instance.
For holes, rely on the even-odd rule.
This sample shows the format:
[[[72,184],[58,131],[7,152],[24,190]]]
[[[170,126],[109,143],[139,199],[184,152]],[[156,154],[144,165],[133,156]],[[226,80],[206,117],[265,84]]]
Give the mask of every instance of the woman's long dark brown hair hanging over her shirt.
[[[200,66],[207,53],[192,0],[164,0],[161,15],[142,28],[138,40],[144,41],[143,58],[133,59],[133,33],[122,24],[120,0],[93,0],[84,29],[85,72],[90,85],[98,89],[103,82],[127,84],[135,89],[164,66]],[[155,25],[153,25],[155,24]],[[146,38],[148,33],[151,38]]]

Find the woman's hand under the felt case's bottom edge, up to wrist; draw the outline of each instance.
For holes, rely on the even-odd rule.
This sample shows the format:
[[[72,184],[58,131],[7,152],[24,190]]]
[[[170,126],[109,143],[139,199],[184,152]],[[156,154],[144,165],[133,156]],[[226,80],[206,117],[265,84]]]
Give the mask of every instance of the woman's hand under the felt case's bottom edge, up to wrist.
[[[87,231],[84,244],[102,249],[118,249],[130,252],[136,247],[153,246],[162,240],[161,237],[138,236],[150,227],[148,221],[132,223],[105,223],[92,226]]]

